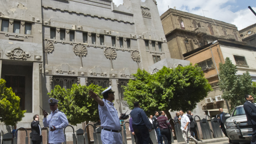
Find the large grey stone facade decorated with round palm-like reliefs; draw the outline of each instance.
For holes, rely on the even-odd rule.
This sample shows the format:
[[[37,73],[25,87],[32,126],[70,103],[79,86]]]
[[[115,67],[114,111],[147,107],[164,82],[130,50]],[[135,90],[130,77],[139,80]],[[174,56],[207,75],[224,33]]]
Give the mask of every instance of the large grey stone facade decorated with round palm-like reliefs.
[[[39,106],[50,112],[47,93],[55,85],[111,85],[115,108],[124,113],[121,86],[138,68],[153,73],[157,63],[189,64],[171,59],[154,0],[124,0],[118,7],[109,0],[0,3],[0,76],[27,110],[18,127],[30,128],[35,114],[42,119]]]

